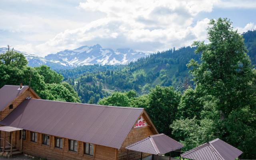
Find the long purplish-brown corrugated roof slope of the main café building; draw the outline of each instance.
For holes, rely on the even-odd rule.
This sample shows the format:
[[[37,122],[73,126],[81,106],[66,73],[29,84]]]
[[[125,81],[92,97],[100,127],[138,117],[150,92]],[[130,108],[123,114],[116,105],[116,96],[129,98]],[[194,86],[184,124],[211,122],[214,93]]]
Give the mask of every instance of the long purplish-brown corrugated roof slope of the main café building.
[[[0,124],[120,148],[142,112],[143,108],[32,98],[24,100]]]

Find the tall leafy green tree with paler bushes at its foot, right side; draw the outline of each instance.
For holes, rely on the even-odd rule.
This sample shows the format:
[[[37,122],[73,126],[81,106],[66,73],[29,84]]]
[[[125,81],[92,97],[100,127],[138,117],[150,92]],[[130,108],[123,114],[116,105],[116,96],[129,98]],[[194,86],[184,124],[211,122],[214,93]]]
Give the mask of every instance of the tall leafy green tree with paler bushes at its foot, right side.
[[[172,134],[187,149],[218,137],[242,150],[243,158],[253,159],[256,156],[256,144],[252,143],[256,141],[256,71],[246,56],[244,39],[233,30],[231,22],[219,18],[211,20],[210,25],[210,44],[193,43],[198,47],[195,53],[202,54],[200,64],[192,59],[187,65],[192,67],[196,89],[194,93],[185,92],[186,97],[179,106],[184,117],[171,125]]]

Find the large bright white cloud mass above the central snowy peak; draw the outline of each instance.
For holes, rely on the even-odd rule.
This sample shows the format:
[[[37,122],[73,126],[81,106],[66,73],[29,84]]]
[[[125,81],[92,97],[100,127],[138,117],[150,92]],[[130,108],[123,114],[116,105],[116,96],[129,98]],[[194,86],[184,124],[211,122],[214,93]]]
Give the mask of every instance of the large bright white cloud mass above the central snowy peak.
[[[156,52],[173,46],[190,45],[206,38],[209,20],[193,24],[200,12],[211,12],[218,0],[87,0],[78,9],[103,12],[104,18],[84,27],[65,30],[38,50],[54,51],[98,43],[102,47],[130,47],[134,50]],[[193,25],[193,27],[192,27]],[[124,46],[126,44],[127,46]],[[140,45],[138,45],[140,44]]]

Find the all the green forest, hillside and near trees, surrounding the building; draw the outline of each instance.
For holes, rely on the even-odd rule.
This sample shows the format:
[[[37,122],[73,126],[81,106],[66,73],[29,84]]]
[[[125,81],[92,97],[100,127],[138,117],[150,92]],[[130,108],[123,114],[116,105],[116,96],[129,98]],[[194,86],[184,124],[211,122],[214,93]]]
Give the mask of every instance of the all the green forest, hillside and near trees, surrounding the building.
[[[170,48],[127,65],[67,70],[26,66],[23,54],[0,55],[0,87],[29,85],[42,98],[144,108],[159,133],[187,151],[215,138],[256,159],[256,30],[238,33],[210,20],[208,44]],[[186,76],[187,75],[187,76]]]

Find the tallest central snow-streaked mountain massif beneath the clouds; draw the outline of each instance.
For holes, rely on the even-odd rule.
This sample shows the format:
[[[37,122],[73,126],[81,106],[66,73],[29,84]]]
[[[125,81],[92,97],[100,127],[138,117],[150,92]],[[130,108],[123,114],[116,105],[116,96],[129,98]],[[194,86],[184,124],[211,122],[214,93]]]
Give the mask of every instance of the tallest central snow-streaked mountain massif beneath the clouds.
[[[136,61],[140,57],[146,57],[152,53],[136,52],[130,48],[117,49],[104,49],[99,44],[92,47],[82,46],[74,50],[64,50],[57,54],[49,54],[45,56],[47,59],[59,60],[70,62],[72,64],[89,65],[89,64],[127,64],[131,61]]]

